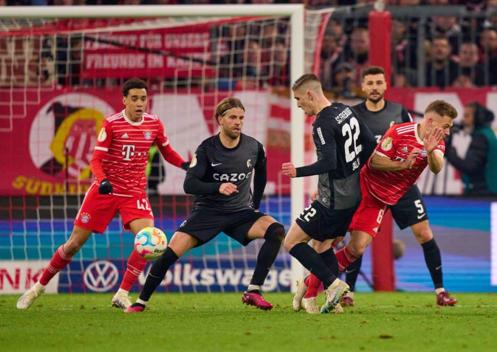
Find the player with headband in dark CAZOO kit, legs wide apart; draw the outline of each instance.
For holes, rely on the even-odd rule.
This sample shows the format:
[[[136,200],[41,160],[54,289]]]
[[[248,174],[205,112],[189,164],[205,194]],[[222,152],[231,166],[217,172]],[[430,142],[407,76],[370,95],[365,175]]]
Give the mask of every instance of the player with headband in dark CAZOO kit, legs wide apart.
[[[260,287],[278,255],[285,229],[257,210],[267,180],[266,156],[262,144],[242,133],[244,114],[245,108],[237,98],[228,97],[218,104],[214,119],[221,132],[197,148],[183,184],[186,193],[197,195],[193,211],[172,236],[166,252],[152,265],[140,298],[125,312],[143,311],[169,266],[220,232],[244,246],[264,238],[242,301],[263,310],[273,308],[262,297]]]

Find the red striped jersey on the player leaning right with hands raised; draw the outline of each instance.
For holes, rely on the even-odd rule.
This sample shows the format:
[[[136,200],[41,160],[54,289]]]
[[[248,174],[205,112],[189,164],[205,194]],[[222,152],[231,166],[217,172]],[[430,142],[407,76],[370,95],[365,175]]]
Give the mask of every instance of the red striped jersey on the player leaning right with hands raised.
[[[395,204],[400,197],[411,188],[416,179],[428,165],[423,141],[417,134],[418,123],[408,122],[393,125],[383,136],[374,153],[394,161],[405,161],[414,148],[420,148],[421,154],[414,165],[407,170],[380,171],[369,166],[362,168],[362,176],[366,180],[369,191],[386,204]],[[445,142],[442,140],[435,149],[436,153],[445,154]]]

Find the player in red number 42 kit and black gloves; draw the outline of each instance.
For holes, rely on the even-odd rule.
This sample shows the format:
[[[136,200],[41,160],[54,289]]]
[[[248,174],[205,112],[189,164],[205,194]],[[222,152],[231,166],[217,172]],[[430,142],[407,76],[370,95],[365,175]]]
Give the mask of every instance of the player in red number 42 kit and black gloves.
[[[188,163],[169,145],[159,117],[145,112],[147,90],[147,83],[136,78],[124,83],[122,93],[126,108],[102,123],[90,161],[95,179],[76,216],[71,237],[55,252],[38,282],[19,298],[18,309],[29,308],[52,277],[71,262],[91,233],[105,231],[117,211],[124,229],[134,234],[154,226],[154,214],[145,193],[145,168],[152,143],[168,163],[185,170]],[[147,260],[136,251],[131,253],[123,282],[112,299],[113,306],[131,305],[128,291],[146,264]]]

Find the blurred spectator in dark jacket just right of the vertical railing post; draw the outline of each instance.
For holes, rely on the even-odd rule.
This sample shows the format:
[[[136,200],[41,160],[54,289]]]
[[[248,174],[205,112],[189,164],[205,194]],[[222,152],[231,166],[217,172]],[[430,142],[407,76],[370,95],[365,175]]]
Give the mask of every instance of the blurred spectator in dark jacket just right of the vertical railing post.
[[[457,77],[457,63],[450,58],[451,48],[446,37],[433,39],[432,60],[426,65],[427,87],[447,87]]]

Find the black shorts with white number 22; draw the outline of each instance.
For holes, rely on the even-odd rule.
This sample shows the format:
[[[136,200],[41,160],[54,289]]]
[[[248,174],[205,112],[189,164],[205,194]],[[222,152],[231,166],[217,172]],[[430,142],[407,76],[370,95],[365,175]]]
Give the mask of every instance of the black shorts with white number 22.
[[[312,239],[325,241],[345,236],[352,216],[359,207],[357,202],[347,209],[329,209],[315,200],[295,220],[297,225]]]

